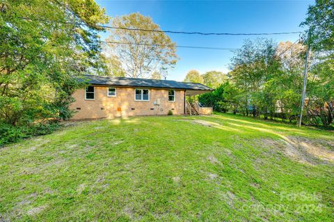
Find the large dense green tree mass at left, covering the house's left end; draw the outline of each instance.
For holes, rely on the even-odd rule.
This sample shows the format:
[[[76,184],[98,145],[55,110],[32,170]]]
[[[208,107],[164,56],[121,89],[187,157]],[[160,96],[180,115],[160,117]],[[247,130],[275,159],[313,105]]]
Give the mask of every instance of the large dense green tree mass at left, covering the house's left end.
[[[0,11],[1,123],[69,118],[73,76],[100,67],[104,9],[93,0],[4,0]]]

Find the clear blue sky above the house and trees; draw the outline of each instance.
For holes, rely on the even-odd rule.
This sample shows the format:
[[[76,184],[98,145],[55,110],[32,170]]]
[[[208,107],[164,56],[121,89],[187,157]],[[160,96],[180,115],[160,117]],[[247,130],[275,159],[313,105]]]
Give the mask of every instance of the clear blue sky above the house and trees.
[[[278,33],[303,31],[313,1],[107,1],[98,0],[111,17],[140,12],[152,17],[162,30],[219,33]],[[168,34],[178,45],[239,48],[249,36],[201,36]],[[102,33],[102,39],[108,33]],[[267,36],[268,37],[268,36]],[[299,34],[271,35],[280,41],[294,42]],[[231,51],[177,49],[180,57],[168,79],[183,80],[190,69],[228,72]]]

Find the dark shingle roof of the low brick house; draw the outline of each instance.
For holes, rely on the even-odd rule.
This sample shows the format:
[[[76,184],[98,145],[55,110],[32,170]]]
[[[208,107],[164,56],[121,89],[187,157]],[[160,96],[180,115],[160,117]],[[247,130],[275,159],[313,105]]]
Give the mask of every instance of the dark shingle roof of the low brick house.
[[[152,87],[152,88],[172,88],[172,89],[191,89],[212,91],[213,89],[200,83],[184,83],[174,80],[157,80],[148,78],[127,78],[127,77],[110,77],[110,76],[93,76],[85,75],[79,78],[89,84],[95,85],[118,85],[129,87]]]

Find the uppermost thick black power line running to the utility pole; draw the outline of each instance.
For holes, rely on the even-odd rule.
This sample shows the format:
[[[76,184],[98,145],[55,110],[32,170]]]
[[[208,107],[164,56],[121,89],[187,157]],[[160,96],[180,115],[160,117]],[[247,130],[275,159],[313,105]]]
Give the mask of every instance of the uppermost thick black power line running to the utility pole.
[[[17,17],[19,19],[25,20],[36,20],[41,22],[58,22],[62,24],[72,24],[77,26],[89,26],[88,24],[78,23],[78,22],[63,22],[63,21],[50,21],[46,19],[35,19],[29,17]],[[186,35],[288,35],[288,34],[300,34],[301,31],[294,32],[281,32],[281,33],[202,33],[202,32],[186,32],[186,31],[166,31],[166,30],[155,30],[155,29],[144,29],[144,28],[125,28],[125,27],[114,27],[114,26],[104,26],[104,25],[93,25],[100,28],[111,28],[111,29],[122,29],[127,31],[145,31],[145,32],[157,32],[157,33],[173,33],[173,34],[186,34]]]

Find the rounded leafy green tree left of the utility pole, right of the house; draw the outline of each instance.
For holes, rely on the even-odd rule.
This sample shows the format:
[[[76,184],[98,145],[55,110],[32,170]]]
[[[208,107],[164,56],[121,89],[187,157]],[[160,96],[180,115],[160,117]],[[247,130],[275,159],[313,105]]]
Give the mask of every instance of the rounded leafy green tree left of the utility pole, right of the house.
[[[273,110],[276,98],[259,96],[264,92],[264,83],[280,74],[280,60],[276,57],[277,45],[272,40],[246,40],[231,59],[230,72],[232,82],[241,89],[244,95],[243,110],[245,114],[251,111],[253,117],[260,112]],[[264,99],[265,102],[264,103]],[[269,101],[270,99],[270,101]],[[269,108],[269,105],[271,106]]]

